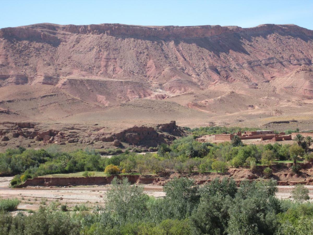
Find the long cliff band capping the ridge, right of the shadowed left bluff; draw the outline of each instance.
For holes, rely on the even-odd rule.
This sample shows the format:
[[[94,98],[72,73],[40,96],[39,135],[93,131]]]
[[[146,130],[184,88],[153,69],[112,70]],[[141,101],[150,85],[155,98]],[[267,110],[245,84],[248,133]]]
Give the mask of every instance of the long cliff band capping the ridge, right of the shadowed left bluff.
[[[201,26],[138,26],[125,24],[90,24],[90,25],[64,25],[62,30],[74,34],[107,34],[112,36],[137,36],[157,38],[203,38],[237,32],[259,32],[277,30],[281,32],[299,31],[312,36],[312,30],[301,28],[297,25],[262,24],[253,28],[238,26],[201,25]]]

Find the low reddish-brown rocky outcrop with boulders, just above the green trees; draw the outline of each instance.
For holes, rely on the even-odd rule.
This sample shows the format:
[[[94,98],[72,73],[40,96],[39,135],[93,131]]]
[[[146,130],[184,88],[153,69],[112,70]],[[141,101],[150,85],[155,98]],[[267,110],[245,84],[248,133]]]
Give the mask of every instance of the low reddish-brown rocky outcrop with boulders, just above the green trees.
[[[11,123],[0,122],[0,140],[7,143],[23,143],[30,147],[47,144],[82,144],[93,145],[94,148],[104,148],[103,144],[110,147],[123,145],[137,145],[142,147],[156,147],[161,143],[171,143],[177,137],[186,135],[183,128],[178,127],[175,121],[155,126],[134,126],[117,133],[103,133],[104,127],[88,128],[83,125],[66,126],[66,128],[44,130],[41,123]],[[12,137],[12,138],[11,138]],[[109,142],[109,143],[103,143]],[[95,144],[95,145],[94,145]],[[1,146],[1,144],[0,144]],[[4,146],[4,147],[5,147]]]

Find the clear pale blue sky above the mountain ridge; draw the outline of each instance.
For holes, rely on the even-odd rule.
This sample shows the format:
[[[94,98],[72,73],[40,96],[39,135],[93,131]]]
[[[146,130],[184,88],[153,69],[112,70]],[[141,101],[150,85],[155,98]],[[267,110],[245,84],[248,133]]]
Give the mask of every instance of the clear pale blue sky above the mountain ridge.
[[[313,1],[1,0],[0,28],[36,23],[136,25],[297,24],[313,29]]]

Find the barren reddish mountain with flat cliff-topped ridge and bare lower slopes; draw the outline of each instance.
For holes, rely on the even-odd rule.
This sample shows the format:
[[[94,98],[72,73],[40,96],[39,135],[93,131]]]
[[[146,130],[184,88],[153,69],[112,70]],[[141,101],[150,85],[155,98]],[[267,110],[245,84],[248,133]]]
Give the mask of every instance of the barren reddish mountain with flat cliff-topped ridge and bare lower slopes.
[[[310,128],[312,57],[313,31],[293,24],[3,28],[0,118]]]

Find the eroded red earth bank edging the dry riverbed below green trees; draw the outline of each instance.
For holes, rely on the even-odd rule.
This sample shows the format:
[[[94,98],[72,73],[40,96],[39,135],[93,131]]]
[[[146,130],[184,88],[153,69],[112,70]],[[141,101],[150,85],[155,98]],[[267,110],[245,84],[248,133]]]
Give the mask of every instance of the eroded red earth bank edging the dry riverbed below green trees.
[[[290,171],[291,164],[280,163],[278,165],[271,165],[273,174],[270,178],[277,180],[278,185],[295,185],[305,184],[313,185],[313,166],[312,163],[300,163],[301,172],[299,174],[292,174]],[[167,181],[177,177],[188,177],[200,185],[210,182],[213,179],[219,178],[233,178],[236,183],[242,180],[261,180],[263,177],[263,170],[267,166],[257,166],[255,170],[247,168],[230,168],[226,173],[206,172],[200,174],[193,172],[192,174],[172,172],[166,176],[156,175],[111,175],[110,177],[38,177],[26,180],[18,187],[26,186],[69,186],[69,185],[105,185],[110,184],[115,176],[119,179],[127,177],[132,184],[153,184],[164,185]]]

